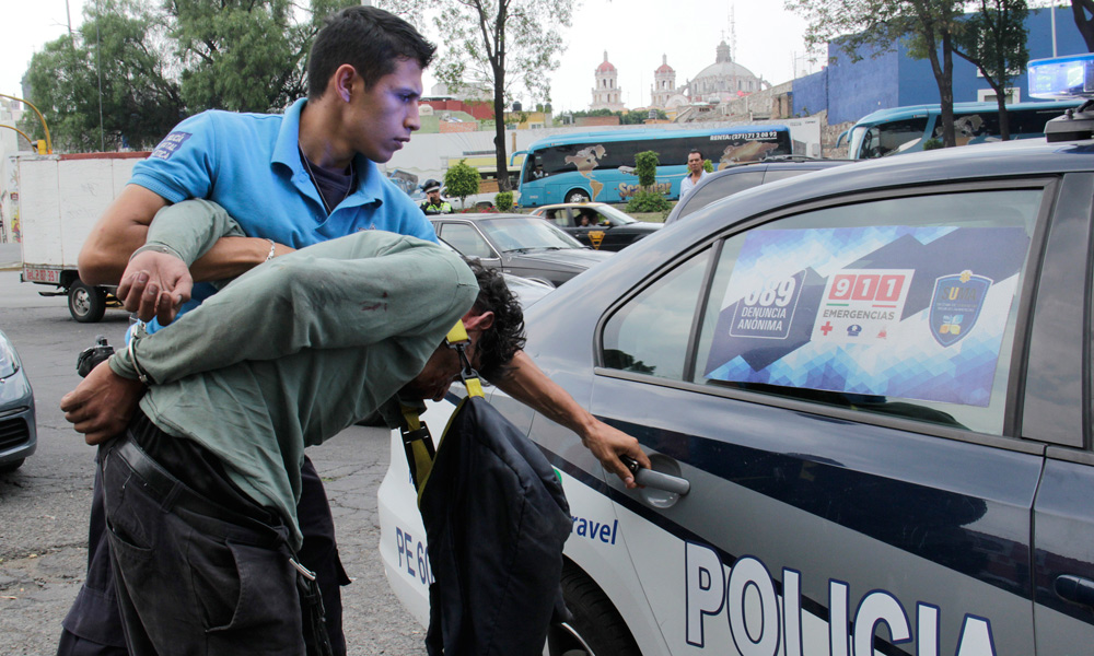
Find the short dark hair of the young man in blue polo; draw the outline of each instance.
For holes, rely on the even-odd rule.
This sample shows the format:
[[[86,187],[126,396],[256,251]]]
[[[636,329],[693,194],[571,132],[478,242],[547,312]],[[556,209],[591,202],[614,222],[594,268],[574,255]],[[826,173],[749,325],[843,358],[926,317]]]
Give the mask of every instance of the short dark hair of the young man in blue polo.
[[[429,66],[437,46],[414,25],[375,7],[347,7],[327,17],[315,36],[307,57],[307,97],[316,99],[327,90],[338,67],[352,66],[365,89],[395,71],[400,59]]]

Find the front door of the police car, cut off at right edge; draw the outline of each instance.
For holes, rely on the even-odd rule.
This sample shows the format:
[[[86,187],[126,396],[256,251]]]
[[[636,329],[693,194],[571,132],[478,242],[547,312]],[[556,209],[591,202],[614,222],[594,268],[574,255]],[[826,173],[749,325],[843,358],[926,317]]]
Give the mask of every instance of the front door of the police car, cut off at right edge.
[[[1049,444],[1034,507],[1038,654],[1094,644],[1094,454],[1091,453],[1090,260],[1094,176],[1064,179],[1029,336],[1022,433]],[[1080,300],[1086,300],[1086,303]],[[1084,419],[1084,415],[1086,419]]]

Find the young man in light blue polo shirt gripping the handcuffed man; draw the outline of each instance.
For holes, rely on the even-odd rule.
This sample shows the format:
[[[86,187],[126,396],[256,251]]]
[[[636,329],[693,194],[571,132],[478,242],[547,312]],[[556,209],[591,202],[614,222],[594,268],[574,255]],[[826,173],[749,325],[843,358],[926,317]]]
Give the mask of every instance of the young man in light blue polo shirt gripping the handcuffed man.
[[[387,12],[371,7],[338,12],[312,48],[309,97],[284,115],[206,112],[179,124],[135,169],[131,184],[89,235],[80,254],[81,279],[117,283],[130,254],[144,244],[155,212],[188,198],[223,206],[249,236],[221,239],[193,270],[178,265],[143,274],[123,300],[141,319],[154,316],[166,324],[207,297],[211,288],[191,288],[194,280],[231,278],[277,255],[360,230],[435,241],[421,210],[376,167],[420,127],[421,72],[432,52],[432,45],[412,26]],[[523,352],[504,379],[494,383],[578,433],[628,485],[633,487],[633,478],[618,456],[649,462],[636,440],[592,417]],[[104,403],[100,429],[124,429],[128,418],[116,410],[133,408],[137,400]],[[337,558],[334,523],[314,469],[309,473],[305,465],[304,477],[311,484],[305,484],[298,506],[305,534],[301,558],[318,574],[331,643],[336,653],[345,652],[337,584],[347,579]],[[121,645],[120,624],[109,586],[104,524],[96,512],[97,504],[88,581],[66,618],[59,654],[125,653],[110,649]],[[103,648],[88,648],[93,645]]]

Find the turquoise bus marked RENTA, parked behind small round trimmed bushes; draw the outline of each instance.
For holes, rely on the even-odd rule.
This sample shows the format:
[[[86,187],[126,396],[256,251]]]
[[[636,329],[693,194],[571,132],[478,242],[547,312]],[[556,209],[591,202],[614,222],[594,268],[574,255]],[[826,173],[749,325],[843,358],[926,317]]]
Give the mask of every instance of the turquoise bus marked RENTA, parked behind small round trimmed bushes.
[[[687,155],[702,156],[725,168],[790,155],[793,144],[785,126],[745,126],[709,130],[638,128],[580,132],[540,139],[523,154],[520,204],[535,208],[557,202],[621,202],[638,190],[635,155],[657,153],[654,189],[675,200],[687,173]]]

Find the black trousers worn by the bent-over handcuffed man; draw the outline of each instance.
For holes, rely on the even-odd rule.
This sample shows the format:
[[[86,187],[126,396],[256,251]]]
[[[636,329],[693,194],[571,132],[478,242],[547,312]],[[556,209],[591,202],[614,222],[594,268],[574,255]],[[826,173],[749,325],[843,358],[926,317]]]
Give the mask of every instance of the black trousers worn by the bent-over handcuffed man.
[[[289,529],[257,504],[243,514],[240,504],[184,485],[132,435],[100,449],[115,591],[132,656],[303,656]]]

